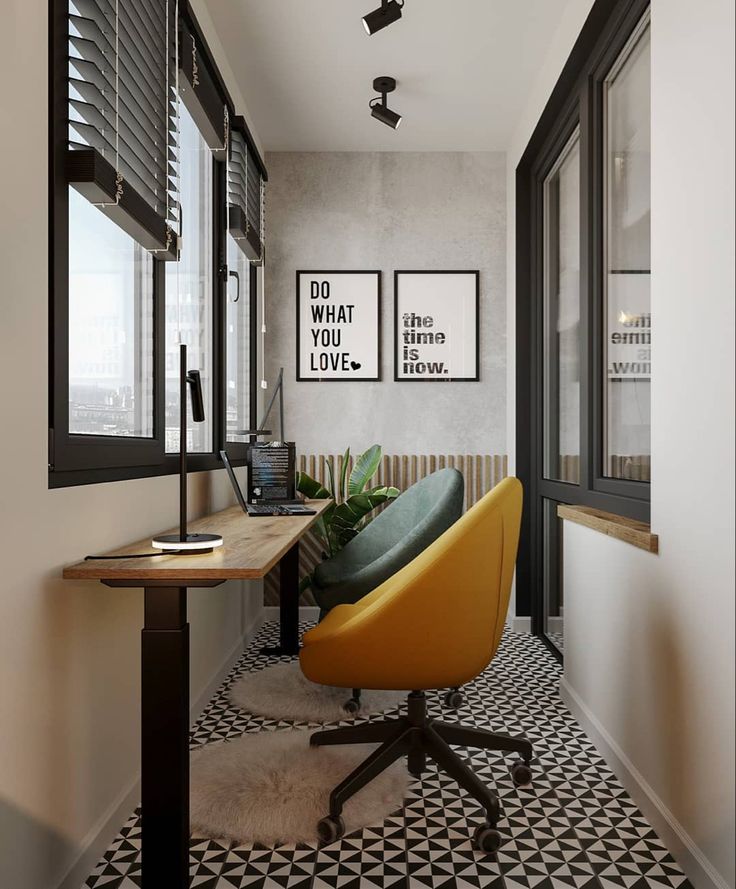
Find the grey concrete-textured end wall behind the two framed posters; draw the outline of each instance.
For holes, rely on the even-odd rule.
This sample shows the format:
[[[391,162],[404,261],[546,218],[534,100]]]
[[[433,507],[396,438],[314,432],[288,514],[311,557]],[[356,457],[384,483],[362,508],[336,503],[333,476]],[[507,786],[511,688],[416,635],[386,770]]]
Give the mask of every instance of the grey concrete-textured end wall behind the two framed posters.
[[[302,453],[506,453],[501,153],[268,155],[267,374]],[[383,379],[296,383],[297,269],[383,271]],[[479,269],[480,382],[393,381],[394,269]]]

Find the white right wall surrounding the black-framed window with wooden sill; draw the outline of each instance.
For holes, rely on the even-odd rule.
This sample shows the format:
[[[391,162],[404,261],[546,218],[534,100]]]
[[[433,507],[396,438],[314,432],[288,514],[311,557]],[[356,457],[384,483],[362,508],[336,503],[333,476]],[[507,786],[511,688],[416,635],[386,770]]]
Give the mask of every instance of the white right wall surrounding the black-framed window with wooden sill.
[[[590,5],[568,4],[509,152],[510,369],[514,170]],[[734,9],[652,5],[660,555],[566,526],[565,693],[695,885],[733,886]]]

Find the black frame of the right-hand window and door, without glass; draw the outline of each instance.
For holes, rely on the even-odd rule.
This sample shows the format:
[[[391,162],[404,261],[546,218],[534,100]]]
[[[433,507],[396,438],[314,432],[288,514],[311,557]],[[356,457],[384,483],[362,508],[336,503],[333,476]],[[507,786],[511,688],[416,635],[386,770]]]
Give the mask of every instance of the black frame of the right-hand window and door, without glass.
[[[516,610],[531,615],[537,635],[543,634],[544,620],[543,501],[649,521],[649,482],[603,475],[602,422],[603,82],[649,7],[649,0],[596,0],[516,169],[516,471],[526,491]],[[581,373],[580,477],[575,484],[544,477],[542,251],[544,179],[578,125]],[[558,535],[553,531],[552,545]]]

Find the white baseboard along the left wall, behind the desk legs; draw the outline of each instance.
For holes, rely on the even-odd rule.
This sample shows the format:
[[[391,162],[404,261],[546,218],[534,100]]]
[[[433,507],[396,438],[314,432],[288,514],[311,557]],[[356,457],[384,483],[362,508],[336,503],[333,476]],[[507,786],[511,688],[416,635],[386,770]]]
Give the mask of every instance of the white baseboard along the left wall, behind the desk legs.
[[[263,614],[259,613],[251,621],[250,625],[246,627],[243,635],[230,649],[227,657],[215,671],[212,679],[192,703],[189,711],[191,722],[199,718],[215,691],[242,655],[245,646],[255,636],[262,624]],[[140,772],[138,772],[131,783],[113,801],[107,811],[100,816],[87,836],[82,840],[78,855],[71,866],[67,867],[65,876],[56,884],[58,889],[79,889],[110,843],[118,835],[121,826],[140,802],[140,798],[141,776]]]

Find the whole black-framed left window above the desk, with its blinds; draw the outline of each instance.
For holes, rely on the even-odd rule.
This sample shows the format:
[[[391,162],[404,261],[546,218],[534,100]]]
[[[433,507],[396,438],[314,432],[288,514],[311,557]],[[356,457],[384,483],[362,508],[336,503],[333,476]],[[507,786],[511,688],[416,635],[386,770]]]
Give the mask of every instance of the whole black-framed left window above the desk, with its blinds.
[[[49,484],[178,470],[178,345],[203,382],[190,469],[254,425],[266,169],[189,4],[50,5]]]

